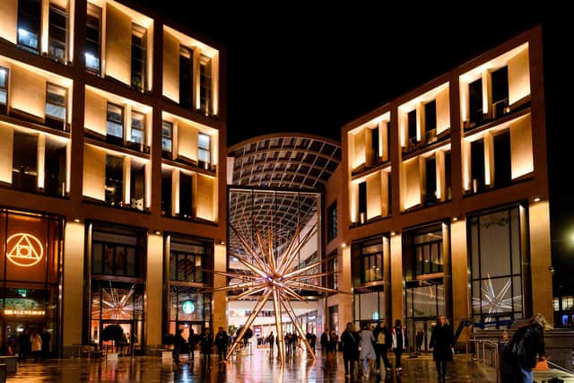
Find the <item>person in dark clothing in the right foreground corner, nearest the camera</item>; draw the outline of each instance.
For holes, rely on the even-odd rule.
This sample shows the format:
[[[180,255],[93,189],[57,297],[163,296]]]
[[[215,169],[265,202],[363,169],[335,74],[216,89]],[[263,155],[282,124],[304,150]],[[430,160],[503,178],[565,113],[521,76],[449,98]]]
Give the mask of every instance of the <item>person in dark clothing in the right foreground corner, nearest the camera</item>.
[[[516,383],[534,383],[532,369],[544,360],[544,328],[551,326],[542,314],[536,314],[525,326],[518,327],[504,350],[504,359]]]

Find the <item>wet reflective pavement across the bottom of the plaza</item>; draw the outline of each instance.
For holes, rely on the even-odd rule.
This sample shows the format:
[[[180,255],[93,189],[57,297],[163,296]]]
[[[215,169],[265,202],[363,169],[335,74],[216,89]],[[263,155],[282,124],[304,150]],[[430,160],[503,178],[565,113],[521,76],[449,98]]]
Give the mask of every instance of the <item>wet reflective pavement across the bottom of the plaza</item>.
[[[437,374],[430,354],[416,358],[403,357],[403,372],[395,371],[381,376],[371,372],[369,377],[356,379],[344,377],[343,355],[326,358],[318,351],[317,360],[312,361],[302,352],[295,353],[285,362],[283,369],[268,349],[257,349],[252,353],[233,356],[230,361],[219,362],[216,355],[205,360],[196,353],[195,361],[187,355],[175,363],[161,360],[159,356],[123,357],[119,361],[94,359],[65,359],[48,361],[26,361],[19,365],[18,372],[9,376],[9,383],[40,382],[435,382]],[[394,355],[389,360],[394,363]],[[570,374],[550,370],[535,372],[535,379],[542,382],[561,376],[565,382],[574,382]],[[447,381],[451,382],[496,382],[494,369],[466,361],[464,354],[457,354],[455,361],[448,364]]]

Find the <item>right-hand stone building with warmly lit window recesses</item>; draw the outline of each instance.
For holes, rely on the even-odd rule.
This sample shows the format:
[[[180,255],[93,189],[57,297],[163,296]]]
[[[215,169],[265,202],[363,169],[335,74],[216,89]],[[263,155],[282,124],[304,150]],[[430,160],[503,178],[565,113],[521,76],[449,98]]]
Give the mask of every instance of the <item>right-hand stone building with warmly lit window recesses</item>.
[[[353,292],[327,298],[339,328],[402,319],[428,344],[438,314],[455,326],[552,318],[541,36],[526,31],[344,126],[326,186],[339,215],[326,254]]]

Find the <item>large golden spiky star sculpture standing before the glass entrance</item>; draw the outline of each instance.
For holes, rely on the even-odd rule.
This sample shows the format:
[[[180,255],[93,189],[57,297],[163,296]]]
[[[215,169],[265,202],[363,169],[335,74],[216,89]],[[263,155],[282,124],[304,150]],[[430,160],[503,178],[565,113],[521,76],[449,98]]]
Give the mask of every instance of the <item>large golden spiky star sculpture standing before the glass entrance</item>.
[[[275,327],[277,331],[277,345],[278,345],[278,357],[281,363],[285,361],[285,344],[283,342],[283,326],[282,326],[282,311],[284,310],[291,322],[297,329],[302,342],[304,342],[307,347],[307,351],[313,359],[315,359],[315,353],[311,349],[311,346],[297,321],[297,316],[295,311],[291,306],[291,299],[301,300],[303,298],[296,292],[297,289],[306,288],[309,290],[315,290],[319,292],[340,292],[334,289],[328,289],[326,287],[317,286],[315,284],[303,282],[311,278],[320,278],[325,275],[333,274],[334,272],[327,273],[316,273],[316,274],[305,274],[312,270],[314,267],[322,265],[326,260],[318,261],[310,265],[306,265],[299,268],[299,265],[293,265],[293,261],[297,259],[300,248],[302,248],[309,239],[317,232],[317,224],[303,236],[303,238],[298,242],[300,238],[300,228],[298,227],[295,231],[291,242],[285,248],[281,255],[276,258],[274,256],[274,240],[272,231],[268,231],[268,240],[262,239],[259,231],[257,230],[257,225],[254,224],[254,231],[257,237],[257,244],[253,246],[249,245],[248,240],[237,231],[233,225],[230,225],[231,229],[237,234],[242,247],[245,250],[244,255],[233,254],[238,261],[248,268],[248,272],[251,274],[236,274],[236,273],[223,273],[219,271],[213,271],[214,274],[220,274],[229,276],[232,278],[238,278],[242,282],[234,283],[230,286],[224,286],[215,288],[212,292],[224,292],[233,290],[245,290],[235,297],[230,297],[230,300],[241,300],[245,299],[250,295],[261,294],[257,300],[255,309],[249,315],[247,322],[239,331],[239,335],[236,337],[233,344],[231,344],[230,350],[227,353],[226,359],[230,358],[230,355],[238,346],[239,342],[243,339],[249,326],[253,323],[259,312],[265,306],[267,300],[273,300],[273,308],[275,313]],[[266,242],[266,243],[265,243]]]

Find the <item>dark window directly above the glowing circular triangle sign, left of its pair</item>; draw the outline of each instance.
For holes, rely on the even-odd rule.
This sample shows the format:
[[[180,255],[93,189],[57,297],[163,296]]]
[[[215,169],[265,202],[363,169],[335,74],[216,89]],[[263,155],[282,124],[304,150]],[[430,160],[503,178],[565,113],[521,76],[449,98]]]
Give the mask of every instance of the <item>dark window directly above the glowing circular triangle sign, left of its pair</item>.
[[[36,191],[38,187],[38,135],[27,135],[14,130],[12,157],[12,185]]]

